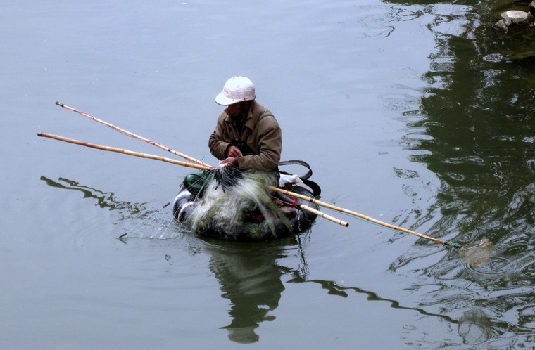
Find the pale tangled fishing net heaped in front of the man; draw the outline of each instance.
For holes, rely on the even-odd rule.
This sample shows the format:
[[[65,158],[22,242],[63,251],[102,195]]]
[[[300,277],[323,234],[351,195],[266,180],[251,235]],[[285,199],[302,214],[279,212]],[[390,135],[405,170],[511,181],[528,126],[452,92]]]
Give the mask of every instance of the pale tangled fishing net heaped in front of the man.
[[[281,224],[290,226],[282,209],[272,200],[268,185],[275,185],[272,174],[240,172],[233,167],[216,169],[208,179],[202,197],[191,209],[186,224],[195,232],[207,230],[236,238],[246,233],[258,238],[271,233],[276,235]]]

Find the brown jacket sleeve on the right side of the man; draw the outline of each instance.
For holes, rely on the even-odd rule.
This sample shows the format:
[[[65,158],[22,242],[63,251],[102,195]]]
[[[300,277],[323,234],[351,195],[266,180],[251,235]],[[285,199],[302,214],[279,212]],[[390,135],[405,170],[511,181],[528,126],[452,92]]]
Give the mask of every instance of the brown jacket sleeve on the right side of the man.
[[[280,161],[282,150],[282,131],[275,117],[260,119],[259,127],[263,130],[258,136],[258,155],[245,155],[237,158],[240,169],[273,171]],[[226,149],[226,148],[225,148]],[[223,151],[225,152],[225,151]]]

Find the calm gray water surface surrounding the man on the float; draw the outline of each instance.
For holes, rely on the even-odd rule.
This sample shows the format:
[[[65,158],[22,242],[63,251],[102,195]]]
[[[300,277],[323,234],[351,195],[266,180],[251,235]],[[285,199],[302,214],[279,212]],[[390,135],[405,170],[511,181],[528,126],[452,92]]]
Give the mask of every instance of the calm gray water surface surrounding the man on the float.
[[[511,7],[4,1],[0,347],[535,346],[535,41],[491,29]],[[237,74],[323,201],[488,238],[489,262],[338,212],[348,228],[199,238],[162,208],[189,169],[37,137],[170,156],[60,101],[214,164],[213,98]]]

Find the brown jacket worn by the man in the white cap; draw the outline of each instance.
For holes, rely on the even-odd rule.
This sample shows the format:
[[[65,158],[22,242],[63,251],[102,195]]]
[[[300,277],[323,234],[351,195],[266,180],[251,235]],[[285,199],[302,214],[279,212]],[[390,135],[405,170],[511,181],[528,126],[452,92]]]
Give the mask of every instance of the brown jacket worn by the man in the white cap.
[[[256,101],[251,104],[241,135],[238,134],[236,124],[227,113],[227,109],[223,110],[218,117],[215,130],[210,135],[208,147],[214,157],[224,160],[227,157],[228,146],[235,145],[239,141],[245,141],[253,151],[253,155],[237,158],[240,169],[260,171],[277,169],[282,150],[282,131],[272,113]]]

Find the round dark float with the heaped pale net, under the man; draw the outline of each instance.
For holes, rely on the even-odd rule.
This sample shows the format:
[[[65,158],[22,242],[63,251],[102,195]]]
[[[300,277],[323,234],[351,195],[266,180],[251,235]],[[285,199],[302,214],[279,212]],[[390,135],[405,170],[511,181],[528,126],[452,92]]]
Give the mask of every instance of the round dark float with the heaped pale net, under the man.
[[[228,240],[270,240],[306,231],[316,219],[299,207],[300,200],[269,190],[276,182],[272,174],[246,171],[239,179],[229,179],[220,169],[211,173],[202,190],[184,186],[175,198],[175,218],[194,233]],[[308,193],[300,186],[294,190]]]

